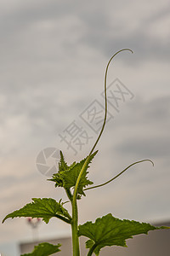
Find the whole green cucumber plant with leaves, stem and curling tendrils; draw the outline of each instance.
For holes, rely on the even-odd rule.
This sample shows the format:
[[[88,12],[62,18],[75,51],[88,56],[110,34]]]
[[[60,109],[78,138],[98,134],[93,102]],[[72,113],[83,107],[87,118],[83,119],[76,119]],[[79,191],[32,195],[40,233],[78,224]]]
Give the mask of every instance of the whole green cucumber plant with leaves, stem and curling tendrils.
[[[81,255],[79,247],[80,236],[86,236],[88,238],[88,241],[86,241],[86,247],[88,248],[87,256],[91,256],[93,253],[95,255],[99,255],[100,250],[106,246],[126,247],[126,240],[128,238],[132,238],[135,235],[148,234],[148,231],[150,230],[161,230],[168,228],[163,226],[155,227],[150,224],[139,223],[127,219],[121,220],[119,218],[113,217],[111,213],[103,216],[102,218],[97,218],[94,223],[88,221],[85,224],[78,224],[77,200],[82,199],[82,195],[85,195],[85,191],[88,189],[99,188],[107,183],[111,183],[116,179],[116,177],[119,177],[123,172],[126,172],[127,169],[129,169],[131,166],[137,165],[141,162],[150,161],[150,163],[154,165],[151,160],[136,161],[130,166],[127,166],[127,168],[125,168],[122,172],[117,174],[116,177],[112,177],[109,181],[96,186],[92,186],[93,182],[88,179],[89,164],[94,159],[95,154],[98,153],[98,151],[94,151],[94,149],[96,148],[99,139],[105,129],[107,117],[106,82],[108,68],[112,59],[117,54],[125,50],[133,53],[131,49],[121,49],[117,51],[115,55],[112,55],[105,69],[105,118],[94,146],[86,158],[78,163],[73,162],[71,165],[66,163],[65,157],[60,151],[59,170],[49,179],[55,183],[56,188],[62,187],[65,189],[65,194],[71,203],[72,212],[68,212],[68,210],[64,207],[65,202],[62,200],[57,202],[52,198],[32,198],[31,203],[26,204],[26,206],[22,207],[20,210],[9,213],[5,218],[3,218],[3,222],[7,218],[16,217],[42,218],[46,224],[48,224],[50,218],[59,218],[71,226],[73,256]],[[43,242],[34,247],[32,253],[22,254],[22,256],[48,256],[59,252],[60,246],[60,244],[53,245],[47,242]]]

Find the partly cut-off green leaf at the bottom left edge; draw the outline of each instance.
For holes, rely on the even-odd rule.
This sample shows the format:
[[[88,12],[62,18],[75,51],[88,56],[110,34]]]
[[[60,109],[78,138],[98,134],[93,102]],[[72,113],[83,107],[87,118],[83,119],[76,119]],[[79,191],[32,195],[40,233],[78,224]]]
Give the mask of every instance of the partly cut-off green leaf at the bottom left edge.
[[[53,253],[58,253],[60,251],[59,250],[60,246],[61,246],[60,244],[53,245],[48,242],[42,242],[34,247],[34,250],[32,251],[32,253],[26,253],[20,256],[48,256]]]

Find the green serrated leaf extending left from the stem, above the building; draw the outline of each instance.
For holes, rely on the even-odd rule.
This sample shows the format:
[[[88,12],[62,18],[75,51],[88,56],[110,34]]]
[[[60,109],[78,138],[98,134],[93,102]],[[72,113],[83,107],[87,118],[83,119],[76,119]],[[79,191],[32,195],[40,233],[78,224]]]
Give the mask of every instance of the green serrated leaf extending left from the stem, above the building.
[[[61,218],[63,220],[71,220],[70,214],[67,210],[62,207],[62,204],[55,201],[52,198],[32,198],[31,203],[27,204],[25,207],[20,210],[16,210],[12,213],[9,213],[3,222],[7,218],[16,218],[16,217],[31,217],[31,218],[42,218],[46,223],[52,217]]]

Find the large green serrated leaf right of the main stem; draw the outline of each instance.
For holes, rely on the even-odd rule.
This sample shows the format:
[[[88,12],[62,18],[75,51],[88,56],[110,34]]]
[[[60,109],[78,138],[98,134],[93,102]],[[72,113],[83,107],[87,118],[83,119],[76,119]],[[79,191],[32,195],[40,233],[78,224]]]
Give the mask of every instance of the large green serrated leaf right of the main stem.
[[[133,238],[133,236],[139,234],[147,234],[150,230],[166,228],[167,227],[158,228],[133,220],[121,220],[114,218],[111,213],[109,213],[102,218],[97,218],[95,223],[87,222],[79,225],[78,236],[87,236],[90,238],[90,240],[86,242],[86,246],[89,249],[93,247],[94,253],[99,255],[99,251],[102,247],[113,245],[127,247],[127,238]]]

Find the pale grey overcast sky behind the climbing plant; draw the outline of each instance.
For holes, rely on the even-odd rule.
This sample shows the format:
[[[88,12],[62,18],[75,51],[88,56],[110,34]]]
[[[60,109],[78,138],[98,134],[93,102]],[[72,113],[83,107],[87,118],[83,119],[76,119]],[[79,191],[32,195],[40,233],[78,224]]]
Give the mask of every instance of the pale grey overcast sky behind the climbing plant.
[[[101,138],[89,177],[95,184],[121,172],[115,183],[87,191],[79,202],[80,223],[108,212],[117,218],[170,220],[170,4],[162,1],[0,1],[0,203],[1,219],[32,197],[64,197],[37,171],[37,154],[62,149],[71,163],[85,157],[96,134],[80,114],[116,78],[133,93]],[[113,111],[109,106],[110,112]],[[59,134],[75,120],[91,140],[75,156]],[[32,239],[26,219],[0,224],[0,243]],[[52,219],[39,237],[65,236],[70,227]],[[8,247],[9,248],[9,247]],[[2,252],[3,252],[2,251]]]

